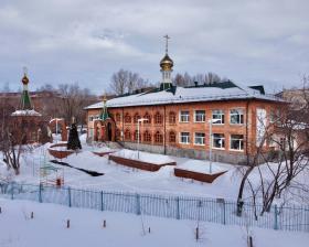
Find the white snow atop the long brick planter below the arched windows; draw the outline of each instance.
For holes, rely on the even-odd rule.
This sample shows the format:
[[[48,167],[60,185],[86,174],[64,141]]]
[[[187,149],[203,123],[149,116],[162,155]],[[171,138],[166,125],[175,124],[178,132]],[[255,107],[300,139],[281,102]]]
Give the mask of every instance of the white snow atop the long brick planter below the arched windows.
[[[127,158],[127,159],[131,159],[131,160],[139,160],[139,161],[149,162],[149,163],[158,164],[158,165],[174,162],[168,155],[161,155],[161,154],[157,154],[157,153],[149,153],[149,152],[142,152],[142,151],[138,152],[138,151],[129,150],[129,149],[121,149],[120,151],[113,153],[113,155]]]

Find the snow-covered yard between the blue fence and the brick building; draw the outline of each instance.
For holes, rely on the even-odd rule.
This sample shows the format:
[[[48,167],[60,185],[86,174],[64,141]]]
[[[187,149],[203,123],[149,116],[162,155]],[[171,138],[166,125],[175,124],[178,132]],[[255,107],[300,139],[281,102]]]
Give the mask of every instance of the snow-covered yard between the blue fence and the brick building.
[[[172,195],[195,195],[203,197],[225,198],[235,201],[237,197],[238,186],[241,182],[241,173],[237,165],[213,162],[213,171],[226,171],[222,176],[217,178],[212,184],[201,183],[198,181],[175,178],[173,175],[173,167],[163,167],[158,172],[141,171],[132,168],[127,168],[108,161],[106,157],[98,157],[93,151],[109,151],[110,149],[104,144],[87,146],[85,135],[81,136],[83,150],[73,153],[63,159],[75,168],[86,169],[104,173],[102,176],[90,176],[82,171],[53,164],[57,168],[63,168],[64,183],[66,186],[93,189],[100,191],[124,191],[124,192],[140,192],[153,194],[172,194]],[[40,167],[49,163],[54,158],[47,152],[51,143],[38,147],[32,152],[26,152],[21,158],[21,174],[15,176],[12,171],[7,171],[6,164],[0,160],[0,180],[12,179],[23,183],[40,182]],[[119,151],[119,150],[118,150]],[[120,153],[137,155],[136,151],[122,150]],[[175,161],[177,168],[188,169],[191,171],[209,172],[209,161],[192,160],[188,158],[178,158],[169,155],[152,154],[140,152],[143,160],[150,161]],[[276,165],[276,164],[274,164]],[[260,167],[265,178],[271,173],[266,165]],[[298,175],[297,182],[309,183],[309,171],[303,171]],[[254,171],[249,176],[252,183],[258,183],[259,173]],[[296,192],[294,192],[296,193]],[[302,193],[301,191],[299,193]],[[247,195],[249,196],[249,193]],[[297,202],[296,197],[291,203]]]

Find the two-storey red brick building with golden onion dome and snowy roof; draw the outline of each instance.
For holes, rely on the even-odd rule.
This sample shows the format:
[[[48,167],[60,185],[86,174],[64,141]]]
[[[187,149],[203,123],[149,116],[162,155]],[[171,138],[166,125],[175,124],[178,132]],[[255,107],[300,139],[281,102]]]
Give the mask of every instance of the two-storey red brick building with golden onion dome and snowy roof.
[[[211,143],[213,160],[245,163],[283,100],[266,95],[263,86],[243,87],[230,80],[177,87],[168,49],[160,67],[160,88],[86,107],[88,139],[120,141],[131,149],[139,141],[140,150],[198,159],[209,159]],[[266,143],[265,151],[269,148]]]

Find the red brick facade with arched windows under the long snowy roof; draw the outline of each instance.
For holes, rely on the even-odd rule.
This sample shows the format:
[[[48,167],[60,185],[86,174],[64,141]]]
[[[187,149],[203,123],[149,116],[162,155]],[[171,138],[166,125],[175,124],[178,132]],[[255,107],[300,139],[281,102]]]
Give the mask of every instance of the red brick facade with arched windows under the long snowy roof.
[[[270,110],[277,109],[278,103],[257,99],[238,99],[224,101],[201,101],[187,104],[169,104],[160,106],[136,106],[108,108],[111,119],[115,121],[115,139],[124,142],[137,142],[137,119],[147,118],[140,125],[140,143],[162,147],[174,147],[178,149],[209,150],[210,127],[209,120],[212,119],[213,110],[222,110],[224,124],[213,124],[212,133],[223,135],[224,147],[215,148],[215,152],[252,154],[256,149],[256,110],[265,109],[267,121]],[[243,112],[242,124],[231,124],[231,110],[241,109]],[[94,140],[96,131],[93,118],[99,115],[102,109],[88,109],[88,137]],[[196,110],[204,110],[205,119],[196,122]],[[189,111],[189,121],[180,119],[181,111]],[[187,118],[187,117],[185,117]],[[184,119],[185,119],[184,118]],[[200,119],[201,120],[201,119]],[[189,143],[181,143],[181,132],[189,132]],[[195,135],[202,136],[204,141],[200,144],[195,141]],[[187,135],[187,133],[185,133]],[[233,136],[241,135],[241,136]],[[231,137],[243,137],[241,150],[231,148]],[[198,141],[199,142],[199,141]],[[221,141],[222,143],[223,141]],[[268,146],[265,147],[266,149]]]

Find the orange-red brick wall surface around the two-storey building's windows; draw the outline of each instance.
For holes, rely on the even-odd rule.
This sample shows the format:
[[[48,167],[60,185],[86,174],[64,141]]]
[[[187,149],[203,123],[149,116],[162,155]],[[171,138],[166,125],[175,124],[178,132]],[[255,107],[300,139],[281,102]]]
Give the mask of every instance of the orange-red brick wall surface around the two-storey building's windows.
[[[134,122],[134,116],[138,114],[140,117],[143,117],[146,112],[151,116],[151,124],[142,124],[140,126],[141,133],[141,143],[151,144],[151,146],[162,146],[164,152],[167,148],[174,148],[175,150],[194,150],[201,151],[201,153],[209,150],[209,140],[210,140],[210,129],[207,121],[212,117],[212,110],[220,109],[224,111],[225,122],[224,125],[212,125],[213,133],[223,133],[225,137],[225,148],[222,150],[215,150],[216,153],[232,154],[244,157],[246,152],[254,153],[256,149],[256,109],[263,108],[266,109],[267,115],[270,109],[279,107],[276,103],[271,101],[262,101],[262,100],[226,100],[226,101],[212,101],[212,103],[191,103],[191,104],[174,104],[174,105],[163,105],[163,106],[140,106],[140,107],[125,107],[125,108],[109,108],[108,111],[116,121],[116,128],[118,132],[125,135],[126,130],[129,130],[131,133],[131,140],[126,142],[135,142],[134,133],[137,130],[137,124]],[[244,124],[242,125],[232,125],[230,122],[230,110],[231,109],[243,109],[244,111]],[[179,121],[179,112],[181,110],[188,110],[190,112],[189,122]],[[205,122],[194,122],[194,111],[195,110],[205,110]],[[99,115],[100,109],[90,109],[87,111],[87,116]],[[169,122],[169,112],[175,112],[175,122]],[[161,124],[154,124],[154,115],[159,112],[163,121]],[[120,121],[117,120],[116,115],[120,115]],[[131,122],[126,124],[124,121],[124,116],[129,114],[131,116]],[[93,128],[93,122],[88,121],[88,133]],[[151,133],[151,142],[143,141],[143,132],[148,130]],[[169,132],[174,131],[175,142],[171,143],[169,141]],[[163,142],[157,143],[154,141],[154,133],[159,132],[163,136]],[[190,132],[190,143],[182,144],[179,142],[180,132]],[[194,144],[194,132],[205,133],[205,144],[198,146]],[[124,135],[118,136],[119,141],[124,141]],[[244,136],[244,150],[231,150],[230,149],[230,137],[231,135],[243,135]],[[267,148],[267,147],[266,147]]]

